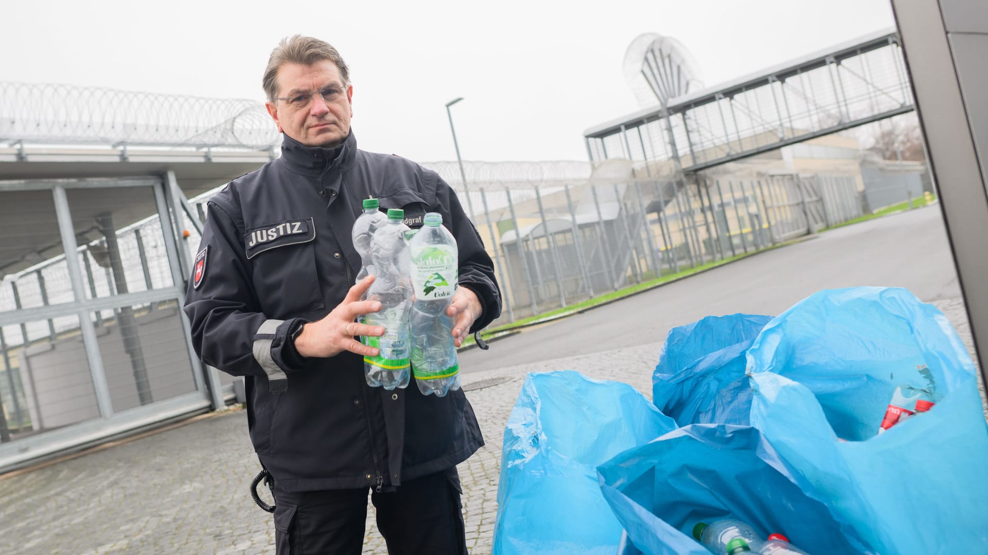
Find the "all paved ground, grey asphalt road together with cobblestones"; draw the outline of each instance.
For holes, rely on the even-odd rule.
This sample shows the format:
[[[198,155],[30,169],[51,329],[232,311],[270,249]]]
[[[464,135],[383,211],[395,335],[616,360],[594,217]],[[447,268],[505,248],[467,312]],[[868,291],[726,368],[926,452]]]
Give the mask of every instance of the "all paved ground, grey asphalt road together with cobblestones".
[[[774,270],[771,270],[774,269]],[[574,369],[651,398],[669,327],[707,314],[778,313],[825,287],[895,284],[936,301],[970,349],[939,211],[920,209],[823,234],[464,354],[487,444],[459,465],[472,553],[489,553],[504,424],[532,371]],[[486,368],[486,369],[484,369]],[[244,411],[0,479],[0,554],[274,551],[274,525],[246,494],[258,470]],[[385,553],[369,511],[365,553]],[[616,538],[617,542],[617,538]]]

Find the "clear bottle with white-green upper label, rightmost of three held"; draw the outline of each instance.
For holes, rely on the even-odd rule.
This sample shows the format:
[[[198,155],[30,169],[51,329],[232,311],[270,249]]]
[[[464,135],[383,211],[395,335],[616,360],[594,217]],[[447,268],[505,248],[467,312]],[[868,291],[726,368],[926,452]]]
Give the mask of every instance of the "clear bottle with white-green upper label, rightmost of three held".
[[[408,247],[415,287],[412,372],[423,395],[443,397],[451,389],[459,389],[453,317],[446,313],[459,277],[456,240],[443,226],[443,215],[429,212]]]

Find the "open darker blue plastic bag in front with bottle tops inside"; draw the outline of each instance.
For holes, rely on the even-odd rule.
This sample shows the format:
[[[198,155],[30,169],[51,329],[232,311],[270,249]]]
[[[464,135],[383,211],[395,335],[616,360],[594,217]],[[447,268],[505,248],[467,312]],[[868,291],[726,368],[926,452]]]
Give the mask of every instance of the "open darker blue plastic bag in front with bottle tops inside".
[[[810,553],[870,552],[800,490],[799,477],[754,428],[687,426],[618,454],[598,473],[627,537],[648,555],[709,555],[693,527],[725,517],[763,538],[783,533]]]

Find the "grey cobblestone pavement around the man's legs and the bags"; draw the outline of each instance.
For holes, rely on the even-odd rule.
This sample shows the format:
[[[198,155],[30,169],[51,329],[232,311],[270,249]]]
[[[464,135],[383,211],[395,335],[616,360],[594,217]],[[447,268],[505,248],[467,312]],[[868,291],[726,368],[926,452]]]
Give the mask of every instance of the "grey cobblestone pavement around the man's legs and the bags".
[[[935,302],[971,349],[960,299]],[[508,345],[506,340],[503,345]],[[472,553],[489,553],[504,424],[526,373],[574,369],[630,383],[650,397],[661,343],[464,376],[506,381],[468,390],[487,444],[459,466]],[[489,382],[487,382],[489,383]],[[258,470],[243,411],[126,442],[0,480],[0,553],[270,553],[275,528],[247,494]],[[365,553],[385,553],[373,525]]]

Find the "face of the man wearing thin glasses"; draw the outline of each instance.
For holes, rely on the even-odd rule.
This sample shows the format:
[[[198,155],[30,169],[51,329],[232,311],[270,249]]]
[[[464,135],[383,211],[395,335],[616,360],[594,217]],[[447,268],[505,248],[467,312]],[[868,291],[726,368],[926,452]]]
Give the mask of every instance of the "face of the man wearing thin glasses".
[[[354,116],[353,86],[344,87],[340,70],[332,60],[312,65],[286,63],[276,76],[278,96],[293,100],[265,103],[278,130],[305,146],[336,146],[350,133]],[[319,94],[323,91],[325,100]],[[305,98],[304,95],[309,95]]]

